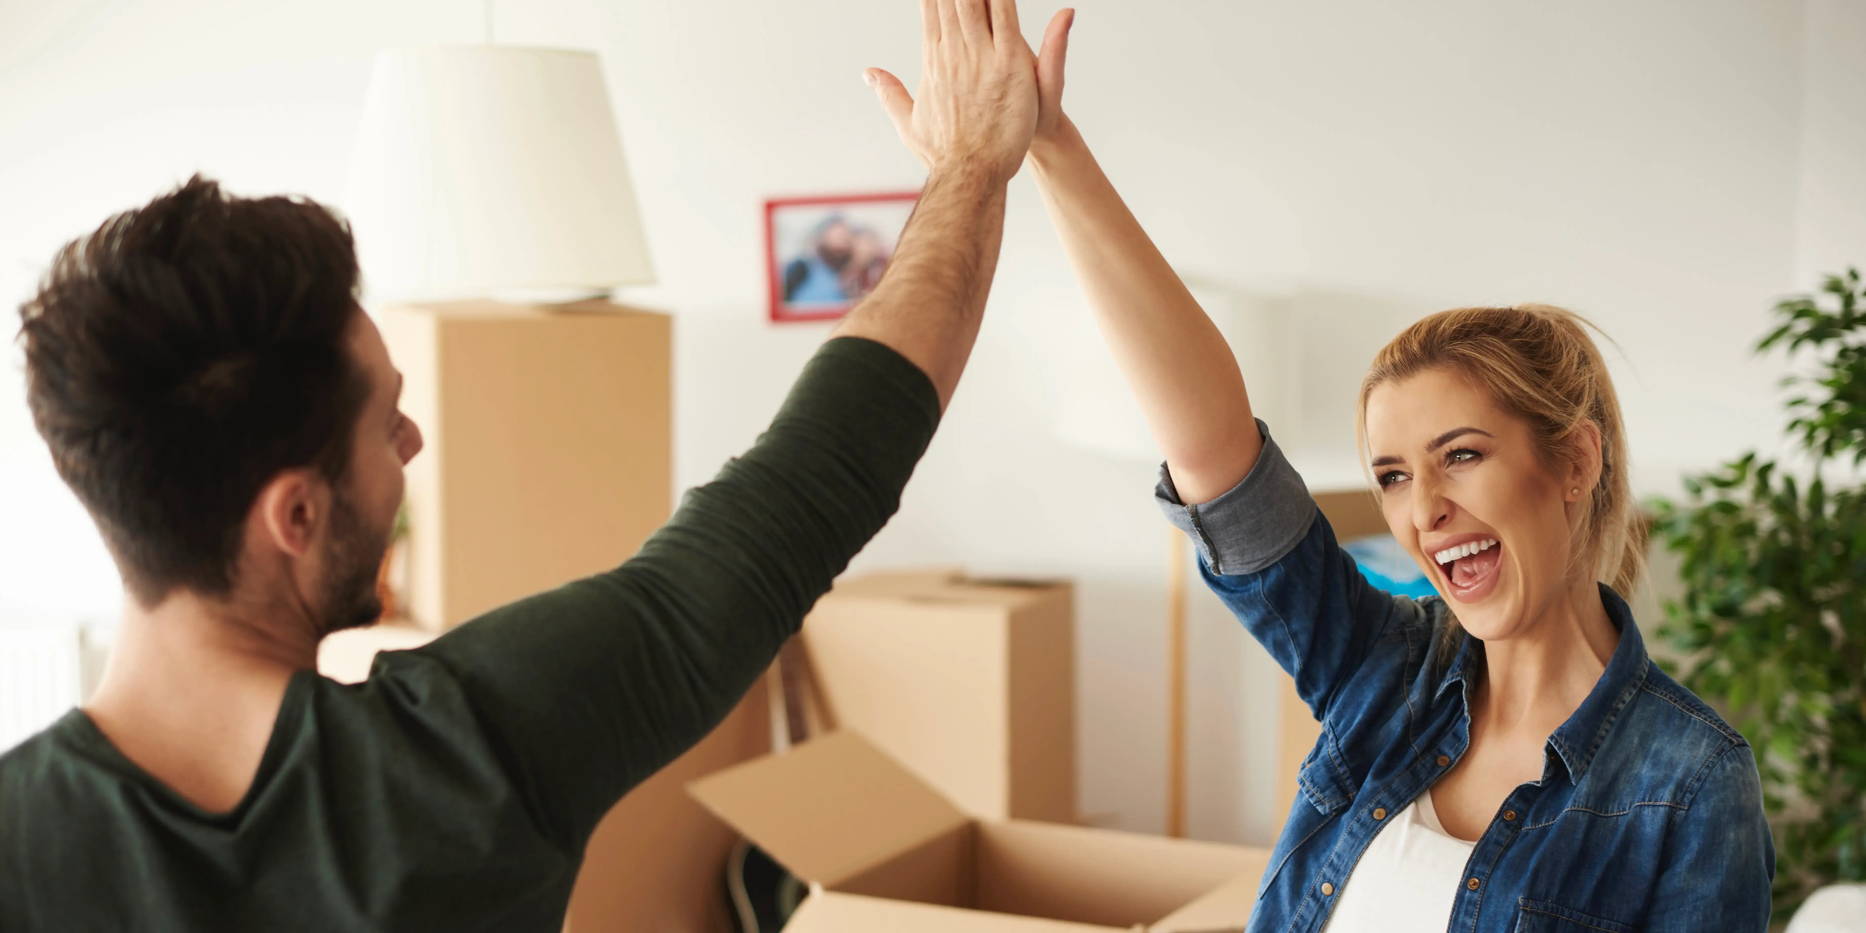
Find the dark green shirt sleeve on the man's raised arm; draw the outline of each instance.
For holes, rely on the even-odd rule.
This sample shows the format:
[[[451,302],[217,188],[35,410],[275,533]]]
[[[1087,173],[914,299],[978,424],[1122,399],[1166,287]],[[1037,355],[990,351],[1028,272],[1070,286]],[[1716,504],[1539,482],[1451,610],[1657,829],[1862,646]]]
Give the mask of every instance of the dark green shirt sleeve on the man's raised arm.
[[[420,649],[461,683],[547,834],[582,851],[623,793],[731,711],[896,511],[937,424],[914,364],[832,340],[752,450],[633,560]]]

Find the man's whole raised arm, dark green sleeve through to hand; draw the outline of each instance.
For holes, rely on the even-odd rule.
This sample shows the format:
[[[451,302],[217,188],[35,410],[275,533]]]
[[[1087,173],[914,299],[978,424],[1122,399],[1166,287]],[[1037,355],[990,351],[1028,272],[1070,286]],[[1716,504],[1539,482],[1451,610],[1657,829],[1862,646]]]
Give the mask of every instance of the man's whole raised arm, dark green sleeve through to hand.
[[[771,664],[899,506],[965,369],[1004,188],[1036,127],[1036,77],[1011,0],[924,0],[922,13],[920,99],[868,77],[926,162],[926,190],[886,276],[771,429],[621,567],[379,662],[379,677],[457,683],[474,733],[567,851]]]

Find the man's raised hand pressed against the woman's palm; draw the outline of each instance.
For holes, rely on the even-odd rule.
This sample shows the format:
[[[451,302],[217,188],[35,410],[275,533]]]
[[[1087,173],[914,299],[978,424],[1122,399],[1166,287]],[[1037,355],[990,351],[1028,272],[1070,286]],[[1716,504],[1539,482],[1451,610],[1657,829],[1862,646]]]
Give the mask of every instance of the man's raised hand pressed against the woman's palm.
[[[1037,75],[1017,0],[920,0],[918,101],[879,67],[864,77],[929,175],[983,170],[1004,183],[1030,149]]]

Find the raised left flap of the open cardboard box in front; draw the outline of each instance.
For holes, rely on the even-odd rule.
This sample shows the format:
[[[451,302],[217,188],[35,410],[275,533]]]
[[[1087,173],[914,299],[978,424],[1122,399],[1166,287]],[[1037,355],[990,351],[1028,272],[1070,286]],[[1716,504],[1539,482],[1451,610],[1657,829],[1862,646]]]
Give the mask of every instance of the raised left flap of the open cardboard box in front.
[[[784,868],[827,886],[970,821],[853,731],[730,767],[687,789]]]

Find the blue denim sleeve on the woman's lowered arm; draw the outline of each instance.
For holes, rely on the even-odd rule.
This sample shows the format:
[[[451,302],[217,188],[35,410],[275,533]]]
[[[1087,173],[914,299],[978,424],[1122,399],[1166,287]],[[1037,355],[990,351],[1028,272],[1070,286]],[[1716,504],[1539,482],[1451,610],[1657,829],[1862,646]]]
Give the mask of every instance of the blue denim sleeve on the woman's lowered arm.
[[[1691,806],[1676,819],[1642,929],[1767,931],[1775,840],[1747,743],[1732,743],[1704,767]]]

